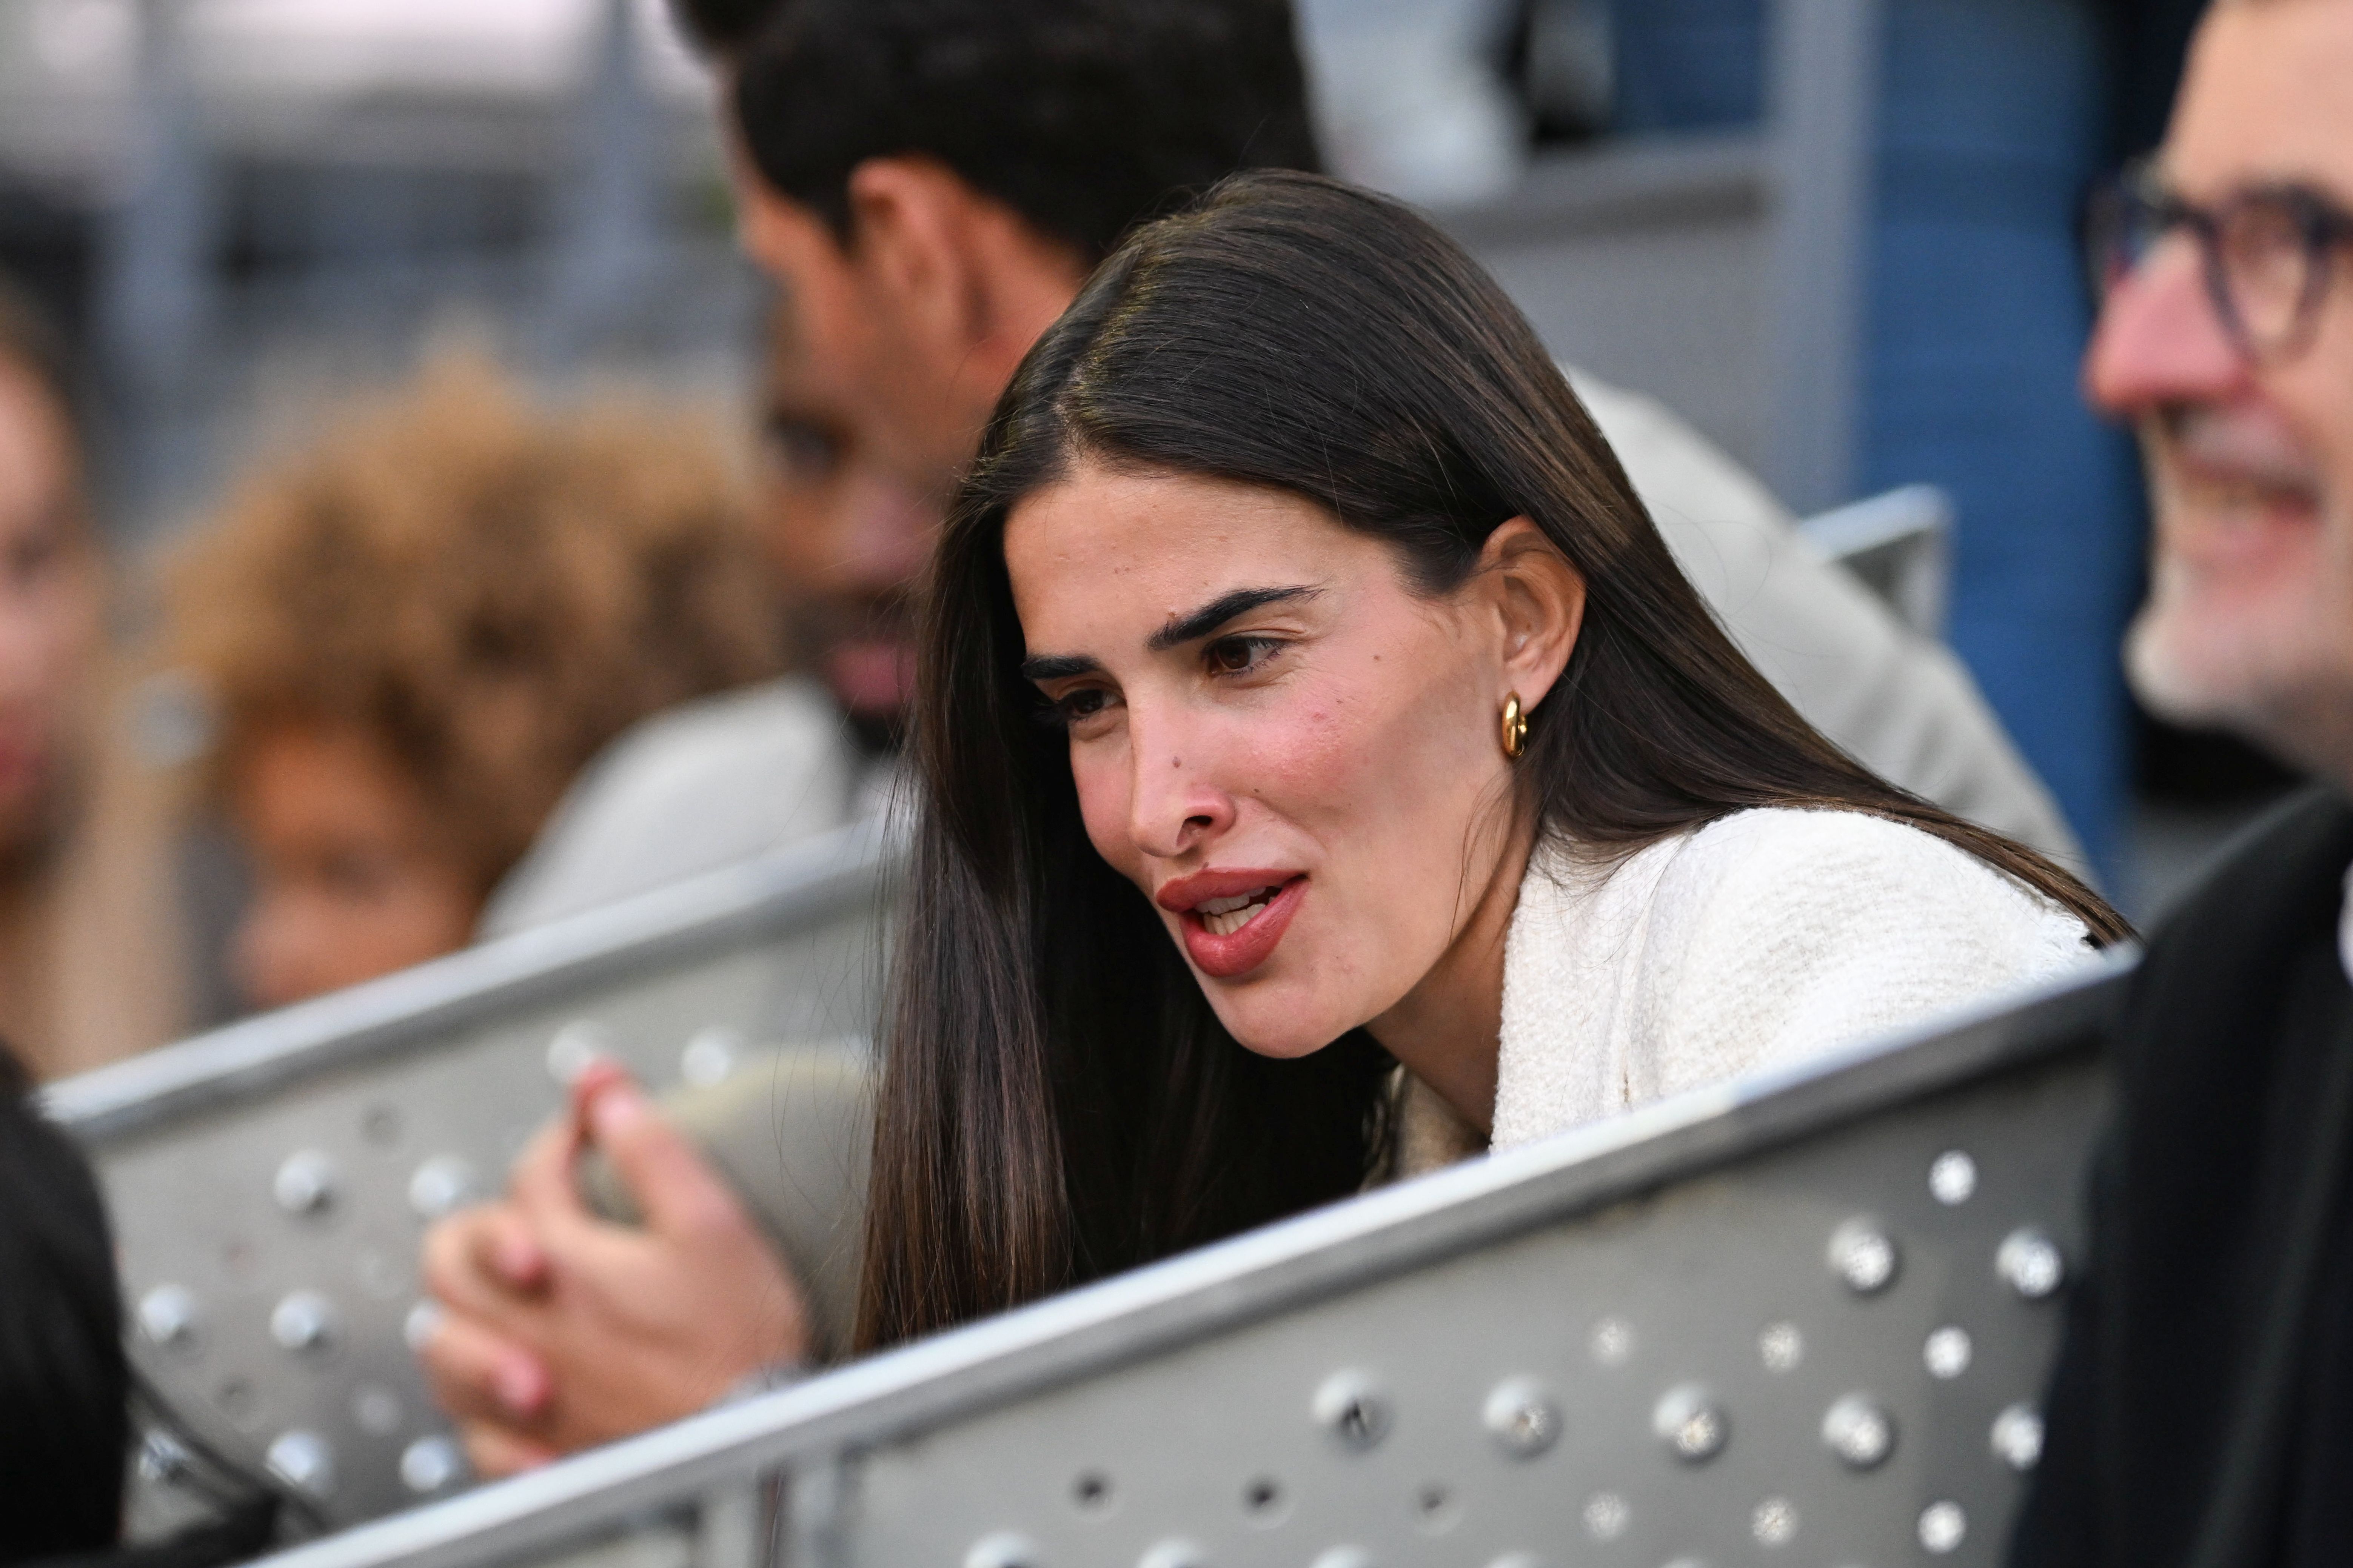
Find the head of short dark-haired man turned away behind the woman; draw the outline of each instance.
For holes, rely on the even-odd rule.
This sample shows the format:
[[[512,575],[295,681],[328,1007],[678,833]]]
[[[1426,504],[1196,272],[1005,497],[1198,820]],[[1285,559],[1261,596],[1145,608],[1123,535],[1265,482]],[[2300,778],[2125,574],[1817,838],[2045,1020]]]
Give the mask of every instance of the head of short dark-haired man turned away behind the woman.
[[[732,59],[744,242],[941,489],[1122,233],[1318,167],[1285,0],[795,0]]]

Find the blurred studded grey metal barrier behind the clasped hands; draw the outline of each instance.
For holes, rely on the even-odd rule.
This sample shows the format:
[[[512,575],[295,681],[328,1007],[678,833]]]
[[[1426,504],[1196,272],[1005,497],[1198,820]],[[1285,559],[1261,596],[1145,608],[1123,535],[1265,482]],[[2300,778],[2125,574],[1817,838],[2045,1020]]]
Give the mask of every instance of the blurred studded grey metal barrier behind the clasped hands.
[[[885,870],[854,827],[49,1088],[141,1371],[332,1523],[461,1483],[405,1342],[426,1225],[504,1185],[586,1051],[659,1088],[864,1039]]]

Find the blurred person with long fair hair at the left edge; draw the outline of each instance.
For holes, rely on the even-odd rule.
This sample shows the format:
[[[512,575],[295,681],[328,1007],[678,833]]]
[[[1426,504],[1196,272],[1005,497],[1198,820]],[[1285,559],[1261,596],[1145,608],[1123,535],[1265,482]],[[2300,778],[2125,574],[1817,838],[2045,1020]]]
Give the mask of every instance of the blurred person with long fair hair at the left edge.
[[[169,788],[106,646],[106,562],[59,336],[0,280],[0,1034],[38,1079],[181,1025]]]

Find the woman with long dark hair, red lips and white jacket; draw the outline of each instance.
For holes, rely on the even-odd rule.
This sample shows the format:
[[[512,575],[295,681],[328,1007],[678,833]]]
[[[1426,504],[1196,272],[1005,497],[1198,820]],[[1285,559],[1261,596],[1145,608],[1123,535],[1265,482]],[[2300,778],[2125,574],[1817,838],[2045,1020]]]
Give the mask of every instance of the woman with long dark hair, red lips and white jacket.
[[[2127,933],[1814,733],[1501,289],[1304,174],[1139,230],[1031,350],[915,755],[866,1345]]]

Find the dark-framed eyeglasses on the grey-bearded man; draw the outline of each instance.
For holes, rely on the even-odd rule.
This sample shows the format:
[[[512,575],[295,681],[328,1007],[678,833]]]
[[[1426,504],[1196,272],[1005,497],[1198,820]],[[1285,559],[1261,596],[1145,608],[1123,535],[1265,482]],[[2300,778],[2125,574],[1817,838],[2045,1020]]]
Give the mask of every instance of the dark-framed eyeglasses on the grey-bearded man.
[[[2304,282],[2289,308],[2287,329],[2271,339],[2257,336],[2247,324],[2224,254],[2226,230],[2252,212],[2287,216],[2304,247]],[[2207,301],[2242,355],[2257,364],[2275,364],[2311,348],[2337,252],[2353,247],[2353,212],[2297,181],[2249,186],[2221,202],[2195,205],[2167,190],[2153,162],[2137,160],[2101,183],[2085,205],[2082,244],[2092,299],[2106,301],[2174,228],[2186,228],[2198,242]]]

